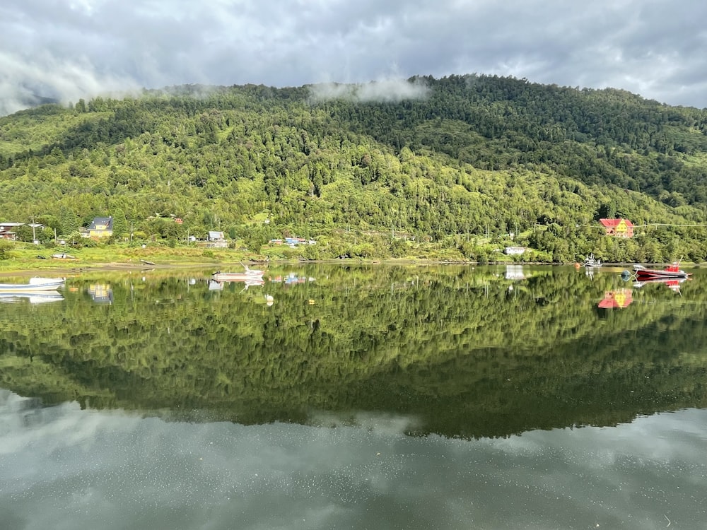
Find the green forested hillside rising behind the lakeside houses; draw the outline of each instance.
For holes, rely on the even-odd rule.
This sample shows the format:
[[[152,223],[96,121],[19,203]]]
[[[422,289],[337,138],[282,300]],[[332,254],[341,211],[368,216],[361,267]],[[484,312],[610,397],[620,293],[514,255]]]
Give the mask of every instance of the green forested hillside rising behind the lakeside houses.
[[[707,110],[469,75],[180,86],[0,118],[0,220],[51,239],[96,216],[112,242],[315,237],[310,259],[704,261]],[[636,237],[603,235],[618,217]]]

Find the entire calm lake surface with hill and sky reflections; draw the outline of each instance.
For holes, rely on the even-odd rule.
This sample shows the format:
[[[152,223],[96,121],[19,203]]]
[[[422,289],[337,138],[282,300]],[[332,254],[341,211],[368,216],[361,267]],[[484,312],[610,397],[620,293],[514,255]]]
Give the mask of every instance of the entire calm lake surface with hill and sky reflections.
[[[707,272],[621,270],[0,296],[0,528],[707,529]]]

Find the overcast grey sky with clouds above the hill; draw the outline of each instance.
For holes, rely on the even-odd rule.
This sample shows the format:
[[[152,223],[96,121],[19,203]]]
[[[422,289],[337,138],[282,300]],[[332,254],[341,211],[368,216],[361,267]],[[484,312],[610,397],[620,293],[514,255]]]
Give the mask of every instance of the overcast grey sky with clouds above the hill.
[[[707,107],[705,0],[3,0],[0,114],[182,83],[496,73]]]

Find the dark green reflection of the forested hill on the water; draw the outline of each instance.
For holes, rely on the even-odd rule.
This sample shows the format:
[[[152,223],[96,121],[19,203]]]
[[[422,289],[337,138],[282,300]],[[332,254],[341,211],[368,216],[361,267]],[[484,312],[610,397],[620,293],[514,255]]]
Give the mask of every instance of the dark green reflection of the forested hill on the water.
[[[392,413],[462,437],[707,406],[702,276],[606,311],[604,293],[631,286],[617,273],[525,271],[308,266],[315,281],[219,292],[185,276],[78,278],[65,302],[0,307],[0,386],[240,423]],[[110,305],[88,294],[97,282]]]

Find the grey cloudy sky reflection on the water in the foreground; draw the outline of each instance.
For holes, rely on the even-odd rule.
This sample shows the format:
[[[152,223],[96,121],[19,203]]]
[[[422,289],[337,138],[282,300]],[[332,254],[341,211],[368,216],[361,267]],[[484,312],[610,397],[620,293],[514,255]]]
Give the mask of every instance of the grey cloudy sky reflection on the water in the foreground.
[[[322,427],[42,408],[0,390],[15,529],[658,529],[707,520],[707,411],[458,440],[361,413]],[[331,426],[335,425],[335,426]]]

